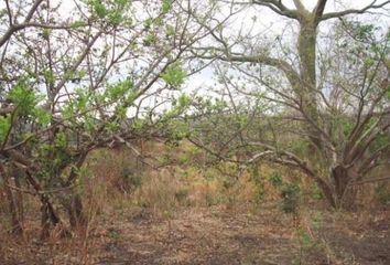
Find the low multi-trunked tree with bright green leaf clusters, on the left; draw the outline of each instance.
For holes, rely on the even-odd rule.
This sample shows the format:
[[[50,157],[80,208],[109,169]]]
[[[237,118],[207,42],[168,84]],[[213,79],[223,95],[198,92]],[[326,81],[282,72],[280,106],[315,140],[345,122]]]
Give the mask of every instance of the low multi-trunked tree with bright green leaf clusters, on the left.
[[[184,55],[208,34],[192,23],[188,13],[197,10],[189,1],[63,8],[6,1],[0,17],[0,173],[12,225],[22,226],[14,192],[35,194],[43,236],[63,223],[59,205],[72,227],[86,224],[77,186],[90,151],[126,145],[137,153],[136,140],[170,137],[165,127],[188,103],[180,92],[189,73]],[[17,170],[12,184],[8,176]]]

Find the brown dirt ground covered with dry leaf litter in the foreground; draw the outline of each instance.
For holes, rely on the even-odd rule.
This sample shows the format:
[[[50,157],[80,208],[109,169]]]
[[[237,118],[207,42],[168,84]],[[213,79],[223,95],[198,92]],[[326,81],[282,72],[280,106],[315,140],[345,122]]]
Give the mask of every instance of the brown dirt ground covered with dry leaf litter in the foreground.
[[[390,264],[390,211],[306,212],[300,221],[274,208],[151,209],[102,214],[88,241],[2,241],[0,264],[290,265]],[[1,258],[1,257],[0,257]]]

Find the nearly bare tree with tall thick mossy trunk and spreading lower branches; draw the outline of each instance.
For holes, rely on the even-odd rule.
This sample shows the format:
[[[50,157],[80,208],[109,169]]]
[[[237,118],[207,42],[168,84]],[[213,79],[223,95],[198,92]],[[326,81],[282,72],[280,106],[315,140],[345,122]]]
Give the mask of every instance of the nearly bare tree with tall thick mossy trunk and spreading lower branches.
[[[294,8],[274,0],[238,4],[266,8],[295,22],[295,46],[282,36],[261,46],[254,42],[259,35],[228,38],[219,29],[212,32],[214,45],[198,46],[194,53],[225,62],[217,72],[225,93],[229,89],[226,112],[247,117],[225,139],[238,141],[236,149],[245,148],[248,158],[240,162],[267,159],[297,168],[317,183],[332,206],[340,208],[355,183],[388,162],[384,153],[390,148],[389,31],[344,17],[379,10],[390,1],[334,12],[325,12],[327,0],[318,0],[312,10],[301,0],[293,3]],[[326,38],[319,25],[332,19],[340,22],[328,24],[334,34]],[[231,66],[235,72],[228,70]],[[252,98],[252,110],[237,108],[242,97]],[[223,146],[232,146],[226,142]]]

